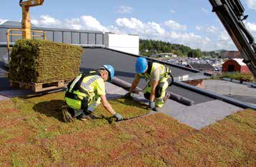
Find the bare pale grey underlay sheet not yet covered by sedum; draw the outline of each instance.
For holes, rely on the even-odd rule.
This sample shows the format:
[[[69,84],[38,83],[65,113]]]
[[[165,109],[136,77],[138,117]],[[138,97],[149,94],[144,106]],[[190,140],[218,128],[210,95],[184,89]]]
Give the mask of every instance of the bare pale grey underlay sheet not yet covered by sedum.
[[[141,103],[147,103],[142,95],[134,94],[133,98]],[[185,106],[182,103],[168,99],[159,112],[172,116],[192,128],[200,129],[241,110],[240,107],[220,100]],[[159,112],[151,111],[151,114]]]

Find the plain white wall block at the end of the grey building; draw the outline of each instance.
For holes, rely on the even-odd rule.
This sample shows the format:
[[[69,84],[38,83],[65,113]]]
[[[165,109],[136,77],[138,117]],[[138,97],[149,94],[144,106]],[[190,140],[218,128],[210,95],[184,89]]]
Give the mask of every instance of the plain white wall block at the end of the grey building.
[[[139,36],[126,34],[108,34],[107,47],[129,54],[139,55]]]

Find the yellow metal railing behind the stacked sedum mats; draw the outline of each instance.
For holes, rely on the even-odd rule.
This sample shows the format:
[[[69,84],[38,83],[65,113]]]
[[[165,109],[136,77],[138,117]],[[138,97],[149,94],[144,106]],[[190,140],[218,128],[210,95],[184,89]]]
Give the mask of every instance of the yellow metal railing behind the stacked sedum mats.
[[[8,29],[6,31],[8,61],[10,61],[10,50],[13,48],[13,47],[10,46],[9,36],[22,36],[22,34],[11,34],[10,33],[11,31],[25,31],[25,30],[24,29]],[[44,31],[31,30],[31,33],[41,33],[42,35],[31,34],[31,37],[44,37],[44,40],[46,40],[46,33]]]

